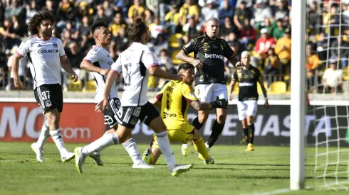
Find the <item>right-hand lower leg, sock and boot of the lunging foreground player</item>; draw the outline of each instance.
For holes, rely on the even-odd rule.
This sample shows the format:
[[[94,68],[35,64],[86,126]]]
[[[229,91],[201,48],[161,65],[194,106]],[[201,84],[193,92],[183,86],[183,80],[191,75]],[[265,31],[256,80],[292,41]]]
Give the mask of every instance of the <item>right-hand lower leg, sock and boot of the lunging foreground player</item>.
[[[175,160],[175,155],[172,152],[172,148],[170,146],[170,140],[167,135],[167,128],[160,118],[157,116],[150,122],[150,128],[152,128],[157,136],[157,143],[159,144],[160,151],[164,154],[165,161],[167,163],[167,167],[172,176],[177,176],[186,172],[192,165],[177,165]]]

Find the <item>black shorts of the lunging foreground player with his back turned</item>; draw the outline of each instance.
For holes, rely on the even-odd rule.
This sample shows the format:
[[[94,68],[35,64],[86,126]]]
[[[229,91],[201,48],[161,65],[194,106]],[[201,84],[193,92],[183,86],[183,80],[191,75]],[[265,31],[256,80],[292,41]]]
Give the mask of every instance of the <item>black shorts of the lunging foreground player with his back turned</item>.
[[[123,106],[119,114],[119,116],[121,116],[119,121],[120,125],[127,128],[135,128],[138,120],[149,126],[152,120],[160,116],[159,112],[150,102],[147,102],[147,104],[143,106]]]

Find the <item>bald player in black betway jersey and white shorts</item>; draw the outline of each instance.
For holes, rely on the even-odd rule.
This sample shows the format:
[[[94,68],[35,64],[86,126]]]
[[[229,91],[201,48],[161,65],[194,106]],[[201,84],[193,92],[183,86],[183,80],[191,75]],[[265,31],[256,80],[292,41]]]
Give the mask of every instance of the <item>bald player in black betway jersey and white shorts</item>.
[[[218,38],[219,20],[210,18],[205,24],[206,33],[197,38],[193,38],[177,54],[177,59],[183,62],[189,62],[197,67],[195,74],[195,94],[199,101],[214,101],[215,97],[219,99],[228,99],[226,89],[226,79],[224,77],[224,57],[231,65],[241,66],[239,59],[235,57],[235,52],[231,50],[225,40]],[[189,53],[194,52],[194,59],[188,57]],[[226,120],[226,108],[216,108],[217,119],[212,126],[212,133],[206,143],[209,150],[217,141],[222,133]],[[209,111],[199,111],[197,118],[194,118],[192,125],[199,130],[209,117]],[[189,152],[189,144],[182,145],[184,154]],[[199,158],[202,158],[199,156]]]

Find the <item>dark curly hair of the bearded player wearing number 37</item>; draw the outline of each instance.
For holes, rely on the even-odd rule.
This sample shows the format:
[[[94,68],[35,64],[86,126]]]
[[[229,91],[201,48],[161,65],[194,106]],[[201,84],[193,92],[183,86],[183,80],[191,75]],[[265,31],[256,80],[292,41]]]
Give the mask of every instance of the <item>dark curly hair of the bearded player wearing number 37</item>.
[[[31,35],[38,34],[38,27],[43,20],[50,20],[53,24],[55,23],[56,18],[53,13],[51,13],[51,11],[41,11],[39,13],[36,13],[33,17],[31,17],[28,23],[28,31],[29,33],[31,33]]]

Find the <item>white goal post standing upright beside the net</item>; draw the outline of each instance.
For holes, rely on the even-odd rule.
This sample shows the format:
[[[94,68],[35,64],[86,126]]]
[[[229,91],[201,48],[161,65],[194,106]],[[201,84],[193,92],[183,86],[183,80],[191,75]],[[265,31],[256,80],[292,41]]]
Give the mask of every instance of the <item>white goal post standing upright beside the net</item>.
[[[306,1],[292,1],[290,189],[305,184]]]

